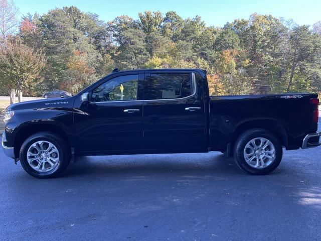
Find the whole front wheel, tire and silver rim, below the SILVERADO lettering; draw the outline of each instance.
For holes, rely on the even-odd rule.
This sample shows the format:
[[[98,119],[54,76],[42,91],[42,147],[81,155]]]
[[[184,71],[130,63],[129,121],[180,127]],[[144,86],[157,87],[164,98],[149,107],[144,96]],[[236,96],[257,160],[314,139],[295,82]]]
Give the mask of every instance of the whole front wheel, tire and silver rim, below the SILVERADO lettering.
[[[27,138],[23,143],[20,161],[25,171],[34,177],[57,177],[69,164],[70,151],[61,137],[50,132],[41,132]]]

